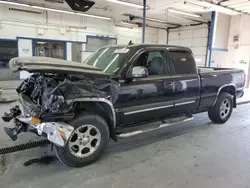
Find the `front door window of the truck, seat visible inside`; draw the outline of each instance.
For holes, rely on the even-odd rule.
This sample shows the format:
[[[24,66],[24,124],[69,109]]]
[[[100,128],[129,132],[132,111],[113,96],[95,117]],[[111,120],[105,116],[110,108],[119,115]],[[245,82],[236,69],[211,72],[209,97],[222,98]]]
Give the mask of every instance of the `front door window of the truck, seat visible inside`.
[[[144,66],[148,69],[149,76],[166,73],[166,58],[163,51],[143,52],[136,60],[135,66]]]

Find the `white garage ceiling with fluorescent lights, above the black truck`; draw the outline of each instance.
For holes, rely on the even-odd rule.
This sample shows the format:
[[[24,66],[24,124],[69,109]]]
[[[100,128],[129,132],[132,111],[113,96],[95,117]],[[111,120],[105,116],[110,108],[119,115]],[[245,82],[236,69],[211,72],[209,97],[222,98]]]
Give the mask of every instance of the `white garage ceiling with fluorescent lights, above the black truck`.
[[[20,3],[28,3],[30,5],[44,6],[48,8],[56,8],[63,10],[71,10],[66,2],[64,3],[52,3],[45,0],[9,0]],[[86,13],[94,14],[99,16],[107,16],[112,17],[117,21],[128,20],[127,16],[123,16],[123,14],[131,14],[135,16],[142,17],[143,11],[130,7],[119,5],[116,3],[108,2],[106,0],[94,0],[95,5]],[[143,0],[123,0],[126,2],[131,2],[134,4],[142,5]],[[176,24],[195,24],[197,21],[207,22],[210,20],[210,12],[212,10],[217,10],[219,12],[224,12],[226,14],[239,14],[234,11],[230,11],[228,9],[218,8],[215,5],[206,4],[202,1],[198,0],[188,0],[188,4],[184,4],[185,0],[147,0],[147,6],[149,6],[149,10],[147,10],[147,17],[155,18],[160,20],[165,20],[166,22],[172,22]],[[244,1],[244,0],[230,0],[231,1]],[[245,0],[248,1],[248,0]],[[249,2],[249,1],[248,1]],[[250,3],[249,3],[250,4]],[[198,6],[197,6],[198,5]],[[200,5],[200,6],[199,6]],[[170,13],[168,11],[169,8],[178,9],[185,12],[201,14],[201,18],[194,18],[191,16],[183,16],[176,13]],[[194,21],[197,20],[197,21]],[[134,20],[134,22],[141,22],[141,20]],[[155,25],[156,23],[150,23]],[[165,24],[156,24],[156,26],[166,27]],[[168,25],[171,26],[171,25]]]

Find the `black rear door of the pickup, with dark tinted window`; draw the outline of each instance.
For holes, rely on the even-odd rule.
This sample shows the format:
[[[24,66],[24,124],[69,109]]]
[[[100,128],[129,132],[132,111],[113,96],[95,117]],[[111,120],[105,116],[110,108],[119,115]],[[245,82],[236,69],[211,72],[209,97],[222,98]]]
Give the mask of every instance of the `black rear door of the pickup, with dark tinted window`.
[[[199,104],[200,77],[191,51],[169,50],[172,60],[174,84],[174,111],[186,113],[196,110]]]

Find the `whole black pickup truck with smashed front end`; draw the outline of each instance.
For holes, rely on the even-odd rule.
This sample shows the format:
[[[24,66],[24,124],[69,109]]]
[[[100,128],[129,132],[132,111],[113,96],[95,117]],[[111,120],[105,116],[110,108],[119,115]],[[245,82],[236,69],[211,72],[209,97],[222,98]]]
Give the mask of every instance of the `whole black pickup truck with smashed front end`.
[[[168,45],[107,46],[84,63],[20,57],[9,66],[32,74],[17,88],[20,106],[3,116],[15,125],[5,132],[12,140],[27,131],[46,137],[60,161],[74,167],[99,159],[110,138],[195,113],[225,123],[245,84],[242,70],[197,68],[189,48]],[[163,123],[148,128],[154,121]]]

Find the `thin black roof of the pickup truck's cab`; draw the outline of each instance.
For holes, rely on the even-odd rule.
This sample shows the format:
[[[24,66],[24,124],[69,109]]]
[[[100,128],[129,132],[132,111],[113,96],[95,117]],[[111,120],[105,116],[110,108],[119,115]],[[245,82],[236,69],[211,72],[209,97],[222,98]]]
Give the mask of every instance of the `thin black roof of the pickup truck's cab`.
[[[180,51],[191,51],[188,47],[183,46],[174,46],[174,45],[166,45],[166,44],[131,44],[131,45],[110,45],[110,47],[130,47],[130,48],[144,48],[144,47],[163,47],[173,50],[180,50]]]

